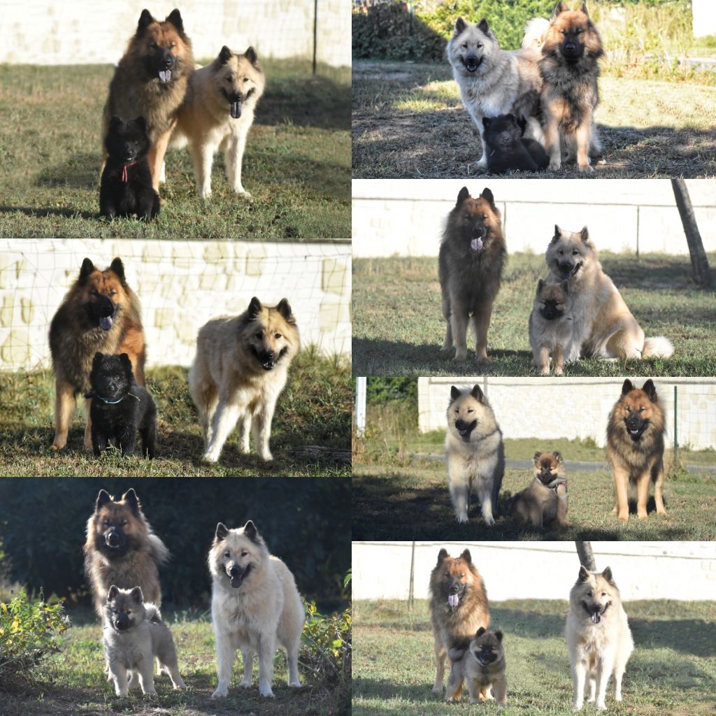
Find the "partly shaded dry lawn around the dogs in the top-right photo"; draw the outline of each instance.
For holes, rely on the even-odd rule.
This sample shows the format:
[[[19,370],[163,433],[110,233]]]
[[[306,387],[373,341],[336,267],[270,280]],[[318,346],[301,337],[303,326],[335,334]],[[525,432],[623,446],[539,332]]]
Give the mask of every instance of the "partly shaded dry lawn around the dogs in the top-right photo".
[[[599,97],[603,161],[590,178],[716,175],[714,87],[601,77]],[[447,62],[354,62],[352,132],[354,178],[487,176]],[[587,176],[574,165],[540,175]]]

